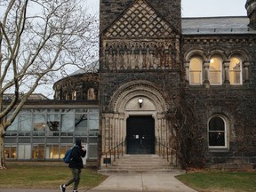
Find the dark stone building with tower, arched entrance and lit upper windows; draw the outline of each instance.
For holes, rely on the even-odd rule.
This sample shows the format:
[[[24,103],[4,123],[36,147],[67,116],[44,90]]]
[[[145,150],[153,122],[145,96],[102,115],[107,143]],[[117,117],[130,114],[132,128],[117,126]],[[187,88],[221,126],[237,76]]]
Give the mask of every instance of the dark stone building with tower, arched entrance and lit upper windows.
[[[100,1],[102,162],[122,142],[180,150],[186,125],[202,165],[255,163],[255,4],[248,17],[181,18],[179,0]]]

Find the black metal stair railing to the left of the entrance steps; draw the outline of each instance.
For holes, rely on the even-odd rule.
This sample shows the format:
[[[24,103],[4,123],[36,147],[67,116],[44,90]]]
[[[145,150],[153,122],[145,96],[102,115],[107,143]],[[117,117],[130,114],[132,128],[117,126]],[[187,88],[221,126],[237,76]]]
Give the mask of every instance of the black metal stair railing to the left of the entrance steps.
[[[108,150],[108,152],[106,152],[106,154],[105,154],[105,156],[106,156],[106,158],[105,158],[106,167],[108,167],[108,164],[112,164],[112,156],[114,156],[114,159],[113,159],[114,162],[116,161],[116,156],[117,156],[117,159],[119,159],[120,155],[124,156],[125,143],[126,143],[126,140],[122,141],[119,144],[116,141],[116,146],[113,147],[113,148],[110,148]],[[108,158],[108,156],[109,156],[109,158]]]

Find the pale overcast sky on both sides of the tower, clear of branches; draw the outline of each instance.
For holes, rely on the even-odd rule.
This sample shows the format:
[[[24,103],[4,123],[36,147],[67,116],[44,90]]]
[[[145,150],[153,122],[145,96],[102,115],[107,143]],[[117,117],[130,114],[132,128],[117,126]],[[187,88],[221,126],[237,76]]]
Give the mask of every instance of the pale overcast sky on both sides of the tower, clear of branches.
[[[92,12],[99,12],[100,0],[87,0]],[[181,0],[182,17],[246,16],[246,0]]]

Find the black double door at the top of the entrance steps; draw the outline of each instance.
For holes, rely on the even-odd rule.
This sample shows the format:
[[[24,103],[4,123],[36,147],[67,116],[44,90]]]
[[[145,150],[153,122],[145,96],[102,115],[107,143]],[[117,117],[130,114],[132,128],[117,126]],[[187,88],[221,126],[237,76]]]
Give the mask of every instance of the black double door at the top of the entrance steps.
[[[130,116],[126,122],[127,154],[155,154],[155,120]]]

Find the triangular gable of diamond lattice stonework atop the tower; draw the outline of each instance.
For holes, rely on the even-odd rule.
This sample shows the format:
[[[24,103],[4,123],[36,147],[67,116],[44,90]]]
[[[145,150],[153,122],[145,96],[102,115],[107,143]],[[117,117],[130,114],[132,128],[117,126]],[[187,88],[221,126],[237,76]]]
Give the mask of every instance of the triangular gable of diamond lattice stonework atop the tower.
[[[172,37],[172,28],[159,17],[144,0],[135,1],[116,22],[108,28],[108,38]]]

